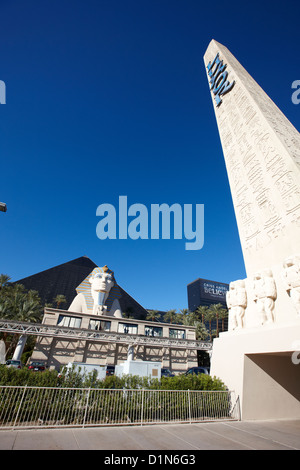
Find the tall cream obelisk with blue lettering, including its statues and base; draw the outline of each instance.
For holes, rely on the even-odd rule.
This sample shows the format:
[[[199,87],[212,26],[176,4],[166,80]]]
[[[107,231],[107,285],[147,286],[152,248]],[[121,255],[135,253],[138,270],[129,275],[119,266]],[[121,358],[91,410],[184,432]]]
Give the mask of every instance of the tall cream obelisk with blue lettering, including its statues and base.
[[[204,63],[247,273],[210,373],[243,419],[300,419],[300,136],[226,47],[212,40]]]

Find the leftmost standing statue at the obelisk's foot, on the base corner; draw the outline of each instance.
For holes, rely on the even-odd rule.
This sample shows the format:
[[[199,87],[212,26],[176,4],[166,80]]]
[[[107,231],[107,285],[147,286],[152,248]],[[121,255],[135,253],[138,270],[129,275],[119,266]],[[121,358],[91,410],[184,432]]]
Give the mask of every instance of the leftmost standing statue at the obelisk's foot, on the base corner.
[[[226,302],[229,309],[231,329],[244,327],[245,308],[247,306],[247,293],[243,280],[231,282],[226,293]]]

